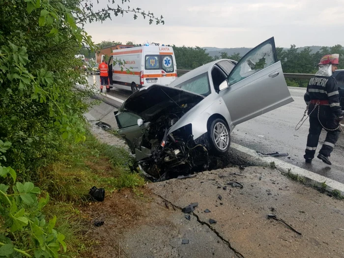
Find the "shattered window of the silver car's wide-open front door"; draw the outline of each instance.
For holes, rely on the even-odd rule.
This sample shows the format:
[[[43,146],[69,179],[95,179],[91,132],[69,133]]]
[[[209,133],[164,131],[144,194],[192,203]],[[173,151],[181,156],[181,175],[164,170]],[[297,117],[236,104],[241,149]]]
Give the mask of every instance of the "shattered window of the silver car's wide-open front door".
[[[241,58],[229,74],[229,85],[236,84],[276,62],[275,42],[271,38]]]

